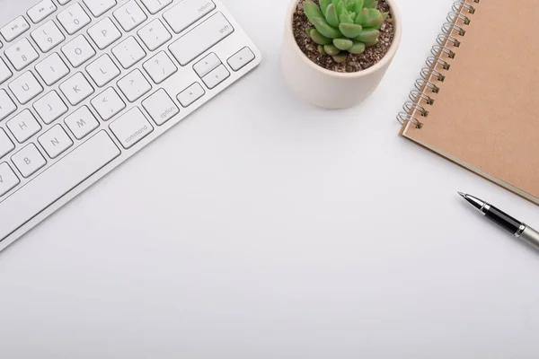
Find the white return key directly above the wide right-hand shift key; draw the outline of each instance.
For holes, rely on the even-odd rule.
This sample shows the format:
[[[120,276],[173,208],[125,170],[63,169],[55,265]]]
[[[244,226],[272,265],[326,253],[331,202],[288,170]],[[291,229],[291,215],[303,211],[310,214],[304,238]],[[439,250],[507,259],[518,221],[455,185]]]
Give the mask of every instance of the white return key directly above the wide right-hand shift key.
[[[172,31],[180,33],[216,8],[211,0],[183,0],[163,13]]]

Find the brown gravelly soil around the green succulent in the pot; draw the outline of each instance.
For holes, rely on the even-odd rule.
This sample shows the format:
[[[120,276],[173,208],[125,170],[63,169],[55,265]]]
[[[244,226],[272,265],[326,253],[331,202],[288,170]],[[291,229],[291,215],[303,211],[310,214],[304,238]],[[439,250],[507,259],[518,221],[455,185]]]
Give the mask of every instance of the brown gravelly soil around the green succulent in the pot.
[[[314,2],[318,4],[319,0],[314,0]],[[380,28],[380,40],[378,43],[373,47],[366,48],[363,54],[349,54],[349,57],[344,62],[338,64],[333,60],[333,57],[322,55],[318,52],[318,45],[306,34],[307,28],[313,27],[313,25],[309,22],[304,13],[303,0],[299,0],[292,23],[292,29],[297,45],[301,48],[303,53],[314,62],[314,64],[322,66],[325,69],[340,73],[354,73],[365,70],[376,65],[376,63],[387,54],[387,51],[391,48],[391,44],[393,43],[395,30],[389,4],[387,4],[385,0],[379,0],[378,10],[383,13],[390,12]]]

